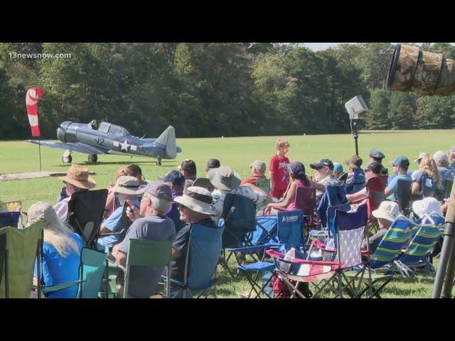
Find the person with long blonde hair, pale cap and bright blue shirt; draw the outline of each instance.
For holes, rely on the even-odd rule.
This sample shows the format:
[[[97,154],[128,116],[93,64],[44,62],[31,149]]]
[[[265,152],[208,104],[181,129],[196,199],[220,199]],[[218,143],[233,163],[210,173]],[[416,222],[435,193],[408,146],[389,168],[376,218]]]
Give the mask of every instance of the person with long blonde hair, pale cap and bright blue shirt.
[[[43,220],[43,259],[38,266],[42,267],[43,284],[57,284],[77,281],[79,278],[80,250],[82,239],[60,220],[54,208],[47,202],[36,202],[27,212],[28,224]],[[35,277],[37,276],[35,269]],[[48,298],[75,298],[77,286],[54,293]]]

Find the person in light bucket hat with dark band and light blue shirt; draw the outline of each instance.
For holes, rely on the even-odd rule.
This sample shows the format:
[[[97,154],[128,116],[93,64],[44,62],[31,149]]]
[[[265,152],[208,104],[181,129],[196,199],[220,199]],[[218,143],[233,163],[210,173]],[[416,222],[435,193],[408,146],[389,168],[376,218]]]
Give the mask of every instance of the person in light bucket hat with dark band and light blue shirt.
[[[117,207],[112,215],[107,218],[101,224],[100,234],[114,233],[122,231],[122,213],[124,205],[127,204],[127,200],[134,206],[139,207],[139,200],[137,200],[136,191],[139,189],[139,180],[134,176],[122,175],[117,179],[114,187],[111,189],[114,193],[117,193],[119,198],[120,206]],[[127,204],[128,205],[128,204]],[[130,207],[132,210],[132,208]],[[119,234],[113,234],[106,237],[100,237],[98,239],[98,249],[105,251],[106,247],[110,249],[120,240]]]

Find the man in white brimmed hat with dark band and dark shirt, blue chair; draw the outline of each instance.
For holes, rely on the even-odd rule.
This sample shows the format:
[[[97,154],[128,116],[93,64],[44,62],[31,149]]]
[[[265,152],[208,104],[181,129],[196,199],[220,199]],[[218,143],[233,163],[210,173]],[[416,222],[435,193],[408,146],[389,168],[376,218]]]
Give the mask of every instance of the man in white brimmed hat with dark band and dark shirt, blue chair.
[[[170,273],[171,278],[183,281],[191,225],[197,223],[209,229],[217,229],[218,226],[210,219],[213,198],[209,190],[191,186],[181,197],[176,197],[174,200],[180,204],[178,206],[180,219],[186,222],[186,225],[178,232],[173,242]]]

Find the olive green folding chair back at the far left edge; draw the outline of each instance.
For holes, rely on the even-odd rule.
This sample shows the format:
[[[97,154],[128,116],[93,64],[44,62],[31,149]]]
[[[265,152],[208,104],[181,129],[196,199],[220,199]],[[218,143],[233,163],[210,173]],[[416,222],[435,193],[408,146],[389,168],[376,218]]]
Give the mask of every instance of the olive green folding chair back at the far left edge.
[[[42,246],[42,220],[36,220],[25,229],[0,229],[0,298],[30,298],[33,265],[41,257]],[[40,280],[41,272],[38,271],[38,286]]]

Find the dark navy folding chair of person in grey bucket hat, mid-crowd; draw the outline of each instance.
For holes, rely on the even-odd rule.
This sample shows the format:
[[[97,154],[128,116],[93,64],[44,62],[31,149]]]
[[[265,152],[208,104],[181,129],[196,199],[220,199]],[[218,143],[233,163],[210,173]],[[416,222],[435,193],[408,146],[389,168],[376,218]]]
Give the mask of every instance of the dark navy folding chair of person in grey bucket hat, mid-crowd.
[[[252,246],[252,233],[256,230],[256,205],[250,198],[244,195],[228,193],[225,197],[223,215],[219,227],[224,227],[223,251],[220,257],[220,264],[228,271],[230,276],[234,274],[229,268],[229,260],[232,254],[235,255],[237,264],[242,263],[232,249]],[[257,261],[257,258],[254,258]]]

